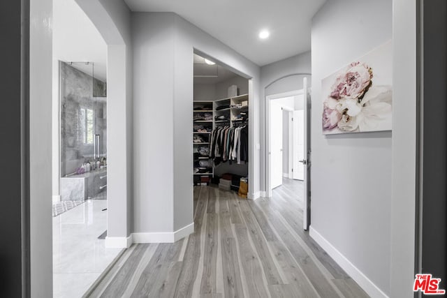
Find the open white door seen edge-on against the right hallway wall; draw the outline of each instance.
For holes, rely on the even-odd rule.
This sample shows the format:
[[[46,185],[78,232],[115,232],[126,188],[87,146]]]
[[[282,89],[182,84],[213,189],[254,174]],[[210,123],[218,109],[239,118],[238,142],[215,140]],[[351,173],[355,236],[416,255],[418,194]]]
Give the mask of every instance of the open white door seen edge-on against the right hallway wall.
[[[304,198],[304,206],[303,206],[303,228],[305,230],[309,229],[310,225],[310,157],[311,157],[311,149],[310,149],[310,109],[311,109],[311,101],[310,101],[310,94],[309,90],[307,88],[307,78],[305,77],[303,80],[303,86],[304,86],[304,95],[305,95],[305,102],[304,102],[304,121],[303,123],[303,131],[305,132],[304,135],[304,149],[305,149],[305,157],[300,161],[302,165],[304,165],[304,190],[303,190],[303,198]]]

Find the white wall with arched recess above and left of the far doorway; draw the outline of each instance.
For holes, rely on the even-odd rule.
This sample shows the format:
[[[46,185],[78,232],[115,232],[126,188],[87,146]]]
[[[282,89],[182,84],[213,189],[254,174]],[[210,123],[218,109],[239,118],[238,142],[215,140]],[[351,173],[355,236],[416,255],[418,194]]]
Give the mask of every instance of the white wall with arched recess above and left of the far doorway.
[[[277,61],[261,67],[261,115],[265,119],[265,96],[281,94],[288,91],[302,89],[302,79],[307,77],[310,84],[311,52],[305,52],[296,56]],[[268,140],[266,140],[267,121],[261,121],[261,189],[268,191],[270,188],[266,181],[265,173],[270,171],[265,160],[265,151],[268,151]]]

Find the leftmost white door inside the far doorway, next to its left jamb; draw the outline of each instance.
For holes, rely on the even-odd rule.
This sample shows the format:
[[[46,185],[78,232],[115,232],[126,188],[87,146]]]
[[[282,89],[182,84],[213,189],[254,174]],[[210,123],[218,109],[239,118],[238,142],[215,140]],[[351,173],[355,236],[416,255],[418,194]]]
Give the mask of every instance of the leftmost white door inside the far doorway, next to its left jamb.
[[[270,174],[272,189],[282,185],[282,109],[270,101]]]

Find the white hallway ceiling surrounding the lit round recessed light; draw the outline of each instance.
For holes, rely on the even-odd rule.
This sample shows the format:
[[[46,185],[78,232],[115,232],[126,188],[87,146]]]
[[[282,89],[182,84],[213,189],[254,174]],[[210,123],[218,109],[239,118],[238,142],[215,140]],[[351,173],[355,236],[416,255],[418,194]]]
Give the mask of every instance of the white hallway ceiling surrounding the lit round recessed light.
[[[264,66],[311,47],[311,20],[326,0],[124,0],[133,11],[174,12]],[[270,38],[260,40],[261,29]]]

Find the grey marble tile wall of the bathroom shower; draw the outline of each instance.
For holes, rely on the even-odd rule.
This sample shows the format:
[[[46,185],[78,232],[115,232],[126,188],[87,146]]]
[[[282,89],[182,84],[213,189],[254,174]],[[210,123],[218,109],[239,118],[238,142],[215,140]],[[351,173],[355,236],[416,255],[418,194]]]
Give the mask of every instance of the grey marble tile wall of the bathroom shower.
[[[94,144],[85,142],[82,109],[93,110],[94,134],[101,135],[101,156],[107,154],[106,84],[61,62],[61,177],[92,161]]]

